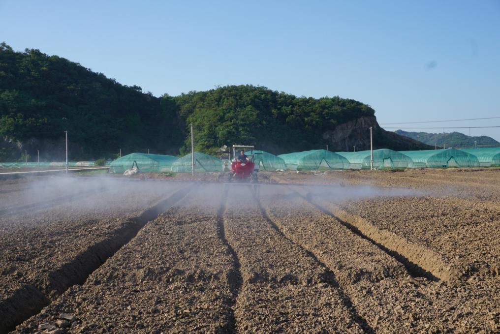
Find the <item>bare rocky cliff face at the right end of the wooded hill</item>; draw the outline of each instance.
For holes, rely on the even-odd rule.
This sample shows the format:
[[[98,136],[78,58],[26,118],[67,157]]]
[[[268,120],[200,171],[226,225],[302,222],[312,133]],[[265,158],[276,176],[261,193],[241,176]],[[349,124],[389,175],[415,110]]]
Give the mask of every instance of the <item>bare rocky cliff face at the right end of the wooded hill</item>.
[[[331,151],[356,151],[370,148],[370,130],[373,127],[373,149],[390,148],[394,150],[431,149],[420,141],[413,140],[394,132],[389,132],[378,125],[375,117],[360,117],[339,124],[333,130],[323,133]]]

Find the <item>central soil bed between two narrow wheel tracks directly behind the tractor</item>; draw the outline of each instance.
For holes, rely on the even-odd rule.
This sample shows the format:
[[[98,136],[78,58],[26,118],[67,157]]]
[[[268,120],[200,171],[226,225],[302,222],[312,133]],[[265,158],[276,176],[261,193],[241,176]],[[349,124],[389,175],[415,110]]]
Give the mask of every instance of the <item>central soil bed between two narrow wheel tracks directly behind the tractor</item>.
[[[240,332],[364,332],[334,277],[272,228],[245,185],[231,185],[225,237],[241,265]]]

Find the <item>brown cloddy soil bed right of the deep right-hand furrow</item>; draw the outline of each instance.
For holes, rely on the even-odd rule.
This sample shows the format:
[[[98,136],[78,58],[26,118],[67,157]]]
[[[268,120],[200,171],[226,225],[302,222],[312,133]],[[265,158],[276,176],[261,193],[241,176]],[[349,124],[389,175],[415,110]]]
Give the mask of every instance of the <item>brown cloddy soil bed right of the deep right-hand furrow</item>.
[[[337,206],[355,219],[369,220],[379,229],[431,249],[455,269],[460,280],[500,272],[498,205],[422,196],[352,200]]]

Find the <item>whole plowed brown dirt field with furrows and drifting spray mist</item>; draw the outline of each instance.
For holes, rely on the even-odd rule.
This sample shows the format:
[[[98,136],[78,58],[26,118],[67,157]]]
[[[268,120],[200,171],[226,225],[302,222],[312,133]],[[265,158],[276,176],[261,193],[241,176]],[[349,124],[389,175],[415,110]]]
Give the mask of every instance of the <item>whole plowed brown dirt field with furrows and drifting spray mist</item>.
[[[0,180],[0,333],[500,332],[500,170]]]

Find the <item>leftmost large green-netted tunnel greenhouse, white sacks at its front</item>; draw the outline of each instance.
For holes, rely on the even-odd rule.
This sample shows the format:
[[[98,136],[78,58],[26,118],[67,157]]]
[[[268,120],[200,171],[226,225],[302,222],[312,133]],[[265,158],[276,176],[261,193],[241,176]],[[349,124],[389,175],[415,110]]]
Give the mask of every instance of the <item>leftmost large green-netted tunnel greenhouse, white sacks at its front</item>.
[[[133,162],[137,163],[140,172],[143,173],[161,173],[170,171],[172,163],[177,160],[172,155],[130,153],[123,155],[111,162],[109,172],[122,173],[126,169],[132,168]]]

